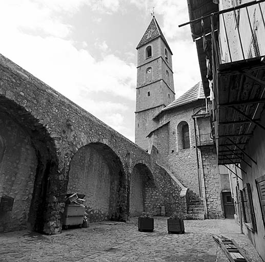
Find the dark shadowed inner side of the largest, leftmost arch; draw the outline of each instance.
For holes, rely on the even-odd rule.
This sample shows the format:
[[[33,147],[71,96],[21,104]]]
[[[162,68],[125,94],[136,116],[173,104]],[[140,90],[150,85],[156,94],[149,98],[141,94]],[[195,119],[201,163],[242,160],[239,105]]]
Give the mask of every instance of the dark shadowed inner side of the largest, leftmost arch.
[[[28,229],[43,233],[45,223],[50,221],[48,181],[57,174],[58,160],[54,141],[39,119],[4,96],[0,96],[0,112],[24,130],[30,137],[30,146],[35,150],[37,164],[36,173],[33,174],[34,181],[32,181],[34,186],[28,214]]]

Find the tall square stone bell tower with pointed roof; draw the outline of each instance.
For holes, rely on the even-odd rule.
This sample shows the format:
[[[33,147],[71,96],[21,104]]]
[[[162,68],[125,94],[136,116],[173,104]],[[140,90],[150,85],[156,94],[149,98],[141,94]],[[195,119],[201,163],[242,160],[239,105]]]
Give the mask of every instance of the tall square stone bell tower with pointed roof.
[[[154,116],[175,99],[172,51],[154,16],[136,49],[135,143],[147,150]]]

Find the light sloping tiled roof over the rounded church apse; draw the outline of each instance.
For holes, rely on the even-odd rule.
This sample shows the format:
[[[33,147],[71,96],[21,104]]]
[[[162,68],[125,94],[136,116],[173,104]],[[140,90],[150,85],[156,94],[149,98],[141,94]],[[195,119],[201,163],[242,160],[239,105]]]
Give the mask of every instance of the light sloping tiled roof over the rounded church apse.
[[[165,108],[163,108],[162,111],[166,111],[180,105],[188,104],[198,99],[205,99],[201,81],[196,83],[190,90],[188,90],[182,96],[180,96],[179,98],[171,102],[169,105],[167,105]]]

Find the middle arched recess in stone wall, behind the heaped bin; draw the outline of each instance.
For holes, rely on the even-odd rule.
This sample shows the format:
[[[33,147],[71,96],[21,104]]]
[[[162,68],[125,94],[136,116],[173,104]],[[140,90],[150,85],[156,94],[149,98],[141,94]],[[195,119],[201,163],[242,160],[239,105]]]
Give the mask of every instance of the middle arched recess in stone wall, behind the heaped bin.
[[[67,192],[86,195],[90,222],[126,221],[126,191],[123,165],[109,146],[90,143],[78,149],[70,163]]]

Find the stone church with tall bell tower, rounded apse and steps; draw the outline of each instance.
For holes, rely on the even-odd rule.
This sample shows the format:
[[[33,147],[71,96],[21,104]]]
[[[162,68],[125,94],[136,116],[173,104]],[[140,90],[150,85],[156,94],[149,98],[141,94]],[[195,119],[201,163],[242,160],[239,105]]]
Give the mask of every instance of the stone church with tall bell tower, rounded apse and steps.
[[[135,143],[155,152],[157,164],[188,189],[187,219],[233,218],[229,174],[217,164],[202,83],[175,99],[173,54],[155,16],[136,49]]]

